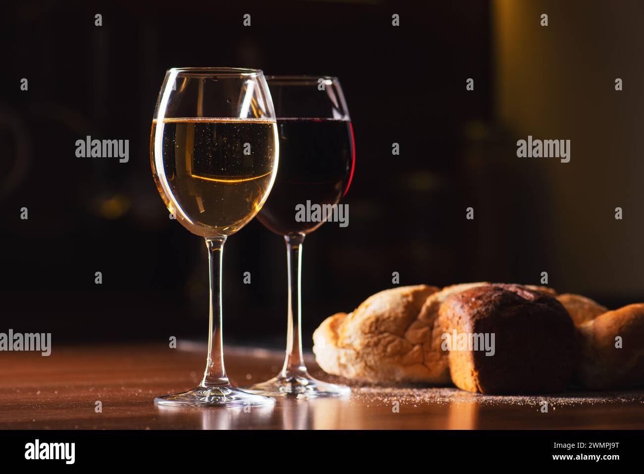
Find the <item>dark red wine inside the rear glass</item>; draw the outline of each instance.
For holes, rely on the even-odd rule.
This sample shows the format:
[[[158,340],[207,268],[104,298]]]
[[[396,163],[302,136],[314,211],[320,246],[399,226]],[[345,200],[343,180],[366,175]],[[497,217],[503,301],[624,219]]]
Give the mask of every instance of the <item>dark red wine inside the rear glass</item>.
[[[278,119],[279,165],[257,218],[279,235],[310,233],[323,222],[298,222],[296,205],[337,204],[350,180],[351,123],[334,119]]]

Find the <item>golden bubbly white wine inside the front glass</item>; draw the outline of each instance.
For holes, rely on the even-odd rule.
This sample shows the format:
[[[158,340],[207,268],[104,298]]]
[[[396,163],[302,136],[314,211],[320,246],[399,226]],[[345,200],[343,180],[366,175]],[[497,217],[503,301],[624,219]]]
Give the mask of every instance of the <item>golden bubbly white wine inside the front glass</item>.
[[[190,232],[231,235],[266,201],[278,166],[275,121],[155,120],[150,139],[156,187]]]

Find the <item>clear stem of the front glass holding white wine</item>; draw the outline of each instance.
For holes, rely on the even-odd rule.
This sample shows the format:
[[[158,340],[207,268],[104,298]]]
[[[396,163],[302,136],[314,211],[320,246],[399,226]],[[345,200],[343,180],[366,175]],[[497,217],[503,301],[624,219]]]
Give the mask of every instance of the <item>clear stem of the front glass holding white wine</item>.
[[[226,237],[205,239],[210,270],[210,316],[208,333],[208,362],[202,387],[229,385],[223,367],[222,339],[222,257]]]

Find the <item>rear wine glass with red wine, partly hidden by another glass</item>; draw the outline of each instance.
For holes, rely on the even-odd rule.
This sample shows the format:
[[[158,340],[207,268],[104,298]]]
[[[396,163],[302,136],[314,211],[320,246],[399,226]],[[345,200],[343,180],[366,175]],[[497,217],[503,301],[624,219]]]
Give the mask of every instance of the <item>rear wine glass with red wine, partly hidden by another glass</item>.
[[[279,170],[258,214],[264,226],[283,235],[289,271],[287,350],[281,372],[244,390],[271,396],[337,397],[346,386],[316,380],[302,355],[300,280],[302,242],[324,220],[301,221],[296,206],[337,204],[354,171],[354,133],[336,77],[268,76],[279,134]],[[328,216],[327,216],[328,217]]]

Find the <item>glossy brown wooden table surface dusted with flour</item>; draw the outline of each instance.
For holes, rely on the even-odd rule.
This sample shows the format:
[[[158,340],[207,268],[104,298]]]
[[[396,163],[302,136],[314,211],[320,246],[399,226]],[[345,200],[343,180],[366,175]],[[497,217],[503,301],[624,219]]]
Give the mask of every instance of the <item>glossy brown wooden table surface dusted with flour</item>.
[[[281,367],[278,351],[227,347],[238,385],[265,380]],[[310,371],[330,377],[308,356]],[[352,384],[347,399],[278,399],[270,408],[164,408],[156,395],[193,388],[205,347],[153,344],[67,347],[49,357],[0,353],[2,429],[534,429],[644,428],[644,390],[489,397],[456,388]],[[102,413],[95,402],[102,403]],[[542,402],[547,401],[547,412]]]

